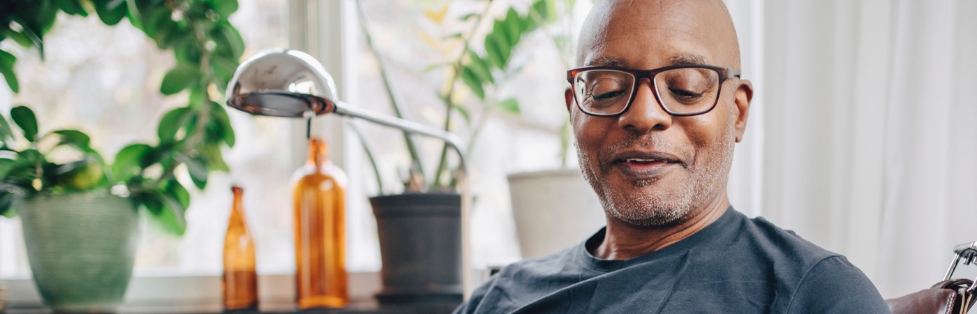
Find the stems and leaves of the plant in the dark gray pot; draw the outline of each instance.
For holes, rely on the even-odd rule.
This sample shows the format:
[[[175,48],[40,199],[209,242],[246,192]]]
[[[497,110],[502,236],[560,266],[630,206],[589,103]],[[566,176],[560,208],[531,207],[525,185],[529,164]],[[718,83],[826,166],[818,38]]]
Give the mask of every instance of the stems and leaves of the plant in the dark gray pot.
[[[561,51],[566,50],[567,41],[546,29],[547,25],[557,21],[560,14],[557,10],[557,0],[532,0],[525,13],[518,12],[515,7],[509,7],[504,10],[504,16],[491,20],[491,28],[487,32],[481,31],[480,28],[484,24],[484,20],[492,19],[489,13],[493,9],[494,3],[492,1],[469,2],[484,3],[484,6],[479,12],[471,12],[458,18],[468,28],[444,30],[445,27],[439,27],[445,33],[429,34],[432,37],[442,37],[446,44],[460,43],[461,49],[443,52],[445,60],[427,67],[427,70],[446,70],[446,83],[443,84],[446,88],[435,91],[445,105],[442,126],[446,131],[451,131],[453,127],[460,124],[454,120],[456,115],[460,115],[463,119],[462,122],[471,129],[467,143],[469,147],[473,147],[472,144],[480,136],[481,129],[488,121],[488,116],[493,112],[507,114],[519,114],[521,112],[520,104],[515,98],[499,99],[497,92],[507,80],[517,75],[522,69],[522,64],[514,62],[519,53],[526,53],[519,50],[522,39],[533,32],[541,32],[551,39]],[[574,1],[562,0],[560,2],[563,2],[565,8],[572,8]],[[444,24],[448,6],[451,4],[446,4],[439,11],[426,12],[425,15],[430,22]],[[361,11],[360,14],[359,20],[366,45],[369,46],[378,61],[380,77],[384,82],[394,113],[398,117],[404,117],[406,109],[403,106],[403,101],[396,97],[397,93],[395,93],[391,83],[394,79],[391,77],[389,66],[374,45],[372,35],[365,24],[366,19]],[[474,49],[479,45],[484,48],[485,52]],[[569,67],[566,58],[563,59]],[[461,90],[467,90],[470,93],[460,93]],[[474,95],[474,99],[462,95]],[[359,131],[356,132],[359,134]],[[564,138],[563,147],[566,150],[569,146],[569,139],[566,138],[565,134],[562,136]],[[447,147],[443,147],[440,152],[437,168],[430,171],[430,169],[426,170],[421,166],[420,153],[417,151],[416,145],[413,144],[411,137],[404,133],[404,140],[411,159],[410,175],[404,182],[406,192],[452,190],[455,182],[451,176],[452,170],[447,162]],[[370,157],[369,150],[366,151],[367,157]],[[377,171],[376,176],[379,178],[380,174],[375,162],[373,168]],[[382,183],[380,190],[383,191]]]

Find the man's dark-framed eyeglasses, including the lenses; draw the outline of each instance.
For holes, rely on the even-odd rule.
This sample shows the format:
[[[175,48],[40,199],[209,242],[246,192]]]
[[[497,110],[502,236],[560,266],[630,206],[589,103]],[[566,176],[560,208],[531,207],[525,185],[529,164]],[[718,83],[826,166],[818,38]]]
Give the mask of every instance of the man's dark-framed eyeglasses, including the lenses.
[[[616,116],[634,101],[642,78],[653,82],[658,105],[671,115],[688,116],[711,111],[727,78],[740,71],[712,66],[670,66],[653,69],[628,67],[578,67],[567,71],[573,100],[581,112]]]

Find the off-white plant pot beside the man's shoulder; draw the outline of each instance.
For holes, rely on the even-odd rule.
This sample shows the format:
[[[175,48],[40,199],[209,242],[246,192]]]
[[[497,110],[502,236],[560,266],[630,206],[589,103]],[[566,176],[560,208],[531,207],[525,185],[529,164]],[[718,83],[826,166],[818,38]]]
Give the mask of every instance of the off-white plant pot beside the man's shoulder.
[[[509,192],[523,258],[573,247],[605,225],[601,202],[579,169],[510,174]]]

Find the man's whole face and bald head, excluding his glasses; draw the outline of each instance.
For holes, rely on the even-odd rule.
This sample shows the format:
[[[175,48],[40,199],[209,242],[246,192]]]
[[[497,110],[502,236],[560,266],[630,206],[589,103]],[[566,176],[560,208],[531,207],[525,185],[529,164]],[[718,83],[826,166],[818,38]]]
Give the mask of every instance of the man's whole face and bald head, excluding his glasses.
[[[739,67],[739,54],[729,47],[730,40],[737,45],[732,23],[711,1],[604,6],[585,23],[589,28],[581,34],[580,66]],[[733,37],[726,38],[730,33]],[[568,92],[580,168],[609,215],[637,226],[672,225],[709,202],[725,200],[733,146],[743,134],[751,90],[736,78],[721,88],[716,107],[693,116],[664,112],[647,79],[630,108],[615,117],[580,112]]]

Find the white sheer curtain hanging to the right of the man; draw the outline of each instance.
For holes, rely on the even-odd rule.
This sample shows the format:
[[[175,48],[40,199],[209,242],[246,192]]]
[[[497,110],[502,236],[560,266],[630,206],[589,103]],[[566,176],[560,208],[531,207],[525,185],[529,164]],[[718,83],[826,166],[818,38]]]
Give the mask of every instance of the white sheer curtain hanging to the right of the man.
[[[727,4],[756,89],[734,205],[845,254],[885,297],[941,280],[977,241],[977,2]]]

